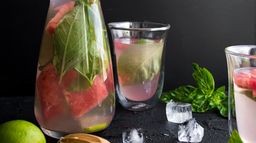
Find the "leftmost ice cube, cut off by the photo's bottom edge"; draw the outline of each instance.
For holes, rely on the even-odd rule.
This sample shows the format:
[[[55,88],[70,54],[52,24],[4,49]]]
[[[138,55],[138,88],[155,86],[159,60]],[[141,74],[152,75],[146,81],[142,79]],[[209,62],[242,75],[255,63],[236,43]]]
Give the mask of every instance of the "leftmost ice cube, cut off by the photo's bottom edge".
[[[141,128],[129,128],[123,132],[123,143],[145,143],[145,131]]]

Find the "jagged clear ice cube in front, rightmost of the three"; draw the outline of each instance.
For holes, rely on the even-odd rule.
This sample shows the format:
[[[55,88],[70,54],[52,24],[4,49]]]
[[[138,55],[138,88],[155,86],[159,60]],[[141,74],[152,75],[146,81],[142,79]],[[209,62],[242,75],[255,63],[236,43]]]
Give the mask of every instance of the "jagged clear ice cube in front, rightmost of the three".
[[[203,138],[204,129],[195,120],[195,118],[184,121],[179,125],[179,141],[197,143]]]

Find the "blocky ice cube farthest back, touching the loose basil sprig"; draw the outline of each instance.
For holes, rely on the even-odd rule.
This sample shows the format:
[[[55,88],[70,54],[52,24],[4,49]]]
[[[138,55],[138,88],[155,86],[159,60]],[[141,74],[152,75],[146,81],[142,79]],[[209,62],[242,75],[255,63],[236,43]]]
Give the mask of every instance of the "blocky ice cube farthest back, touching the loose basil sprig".
[[[192,107],[189,103],[176,103],[171,100],[166,104],[167,120],[174,123],[182,123],[192,118]]]

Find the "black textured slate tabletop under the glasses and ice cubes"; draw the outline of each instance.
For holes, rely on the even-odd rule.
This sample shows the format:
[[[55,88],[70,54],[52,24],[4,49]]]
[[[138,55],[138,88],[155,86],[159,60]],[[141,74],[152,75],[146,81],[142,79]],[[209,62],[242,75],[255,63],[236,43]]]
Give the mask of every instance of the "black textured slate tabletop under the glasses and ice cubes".
[[[121,107],[116,101],[116,113],[110,126],[97,133],[111,143],[122,142],[122,132],[129,127],[139,127],[145,130],[146,143],[181,143],[178,140],[178,125],[167,121],[165,103],[159,101],[157,105],[146,111],[130,111]],[[204,113],[193,113],[193,118],[204,128],[201,143],[227,143],[229,139],[228,120],[217,108]],[[34,97],[1,97],[0,124],[23,119],[39,127],[34,116]],[[47,143],[57,143],[58,139],[45,135]]]

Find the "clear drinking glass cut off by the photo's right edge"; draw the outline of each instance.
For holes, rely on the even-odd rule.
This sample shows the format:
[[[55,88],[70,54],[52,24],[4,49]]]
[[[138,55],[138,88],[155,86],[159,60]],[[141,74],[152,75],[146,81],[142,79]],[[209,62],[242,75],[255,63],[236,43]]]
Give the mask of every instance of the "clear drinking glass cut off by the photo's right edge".
[[[228,66],[228,126],[244,143],[256,141],[256,46],[225,48]]]

